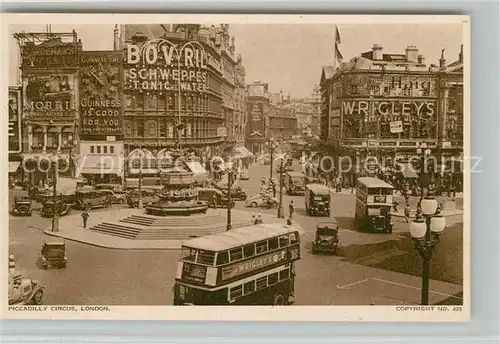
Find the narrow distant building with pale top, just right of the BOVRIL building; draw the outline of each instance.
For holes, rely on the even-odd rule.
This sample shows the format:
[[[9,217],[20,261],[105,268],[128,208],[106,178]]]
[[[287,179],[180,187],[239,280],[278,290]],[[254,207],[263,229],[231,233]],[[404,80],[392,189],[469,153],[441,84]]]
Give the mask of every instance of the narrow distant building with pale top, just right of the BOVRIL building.
[[[254,153],[262,152],[270,137],[267,131],[269,108],[268,84],[255,81],[247,85],[246,147]]]

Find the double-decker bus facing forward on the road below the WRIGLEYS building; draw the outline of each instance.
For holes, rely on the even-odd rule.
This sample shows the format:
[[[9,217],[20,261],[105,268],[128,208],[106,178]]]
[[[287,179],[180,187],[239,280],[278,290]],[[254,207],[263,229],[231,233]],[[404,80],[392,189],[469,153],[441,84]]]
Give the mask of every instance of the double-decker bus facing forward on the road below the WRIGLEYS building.
[[[391,207],[394,187],[373,177],[356,182],[356,227],[359,231],[392,233]]]

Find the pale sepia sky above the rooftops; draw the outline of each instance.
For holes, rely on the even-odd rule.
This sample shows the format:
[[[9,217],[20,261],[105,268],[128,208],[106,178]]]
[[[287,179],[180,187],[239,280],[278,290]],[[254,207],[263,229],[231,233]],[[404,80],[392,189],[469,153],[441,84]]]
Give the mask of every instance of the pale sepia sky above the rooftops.
[[[52,25],[52,32],[75,29],[84,50],[112,50],[113,25]],[[460,24],[345,24],[338,26],[339,49],[347,62],[381,44],[384,53],[404,54],[408,45],[419,49],[427,64],[439,64],[441,49],[448,63],[458,59],[463,43]],[[13,25],[11,33],[45,32],[45,25]],[[236,51],[243,58],[246,83],[260,80],[269,91],[291,97],[307,97],[319,83],[321,68],[333,64],[333,24],[231,24]],[[11,36],[12,37],[12,36]],[[19,48],[9,42],[11,61],[18,61]],[[16,84],[18,63],[11,63],[9,79]]]

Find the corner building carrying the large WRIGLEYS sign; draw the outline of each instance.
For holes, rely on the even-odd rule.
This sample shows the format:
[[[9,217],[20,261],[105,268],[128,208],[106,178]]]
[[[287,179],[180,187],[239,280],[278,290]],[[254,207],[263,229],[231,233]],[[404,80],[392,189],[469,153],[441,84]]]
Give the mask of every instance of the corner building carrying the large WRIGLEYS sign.
[[[447,145],[445,128],[454,116],[445,109],[450,76],[460,84],[461,72],[450,73],[444,56],[439,66],[428,66],[414,46],[405,54],[385,54],[375,44],[337,69],[324,67],[320,135],[325,148],[352,161],[365,156],[404,159],[423,144],[438,154]],[[355,170],[359,166],[347,173],[350,178]]]

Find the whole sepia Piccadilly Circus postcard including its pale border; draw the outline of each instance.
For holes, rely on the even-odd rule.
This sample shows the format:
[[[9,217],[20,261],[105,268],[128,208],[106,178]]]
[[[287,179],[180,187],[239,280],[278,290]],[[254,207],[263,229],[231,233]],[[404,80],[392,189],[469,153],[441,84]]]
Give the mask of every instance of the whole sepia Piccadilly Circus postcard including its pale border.
[[[4,25],[4,314],[468,319],[467,17],[71,16]]]

